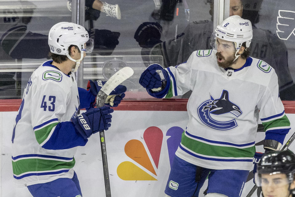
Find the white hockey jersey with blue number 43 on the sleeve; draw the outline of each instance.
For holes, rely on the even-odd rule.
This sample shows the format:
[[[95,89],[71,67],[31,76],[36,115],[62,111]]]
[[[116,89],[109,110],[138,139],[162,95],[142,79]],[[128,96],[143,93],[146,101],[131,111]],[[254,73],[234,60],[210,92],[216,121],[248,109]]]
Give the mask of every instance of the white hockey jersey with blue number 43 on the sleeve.
[[[51,62],[44,62],[31,75],[16,117],[12,167],[20,187],[74,174],[78,144],[67,143],[82,138],[69,122],[79,109],[77,82],[74,74],[62,73]],[[87,142],[80,141],[82,146]]]

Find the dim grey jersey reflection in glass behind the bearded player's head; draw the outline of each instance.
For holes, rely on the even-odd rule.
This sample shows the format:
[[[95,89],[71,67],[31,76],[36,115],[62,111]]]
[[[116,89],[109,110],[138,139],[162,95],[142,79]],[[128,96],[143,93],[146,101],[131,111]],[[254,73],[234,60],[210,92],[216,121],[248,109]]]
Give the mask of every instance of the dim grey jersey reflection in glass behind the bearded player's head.
[[[268,30],[253,28],[253,38],[250,45],[250,56],[259,58],[273,67],[278,76],[279,90],[285,90],[294,85],[288,67],[288,53],[284,42]],[[213,22],[194,21],[189,23],[185,31],[176,39],[161,42],[150,51],[150,54],[160,54],[164,58],[163,67],[176,66],[185,62],[193,51],[211,49]],[[293,89],[289,91],[295,91]],[[290,95],[281,95],[290,100]],[[281,97],[282,98],[282,97]]]

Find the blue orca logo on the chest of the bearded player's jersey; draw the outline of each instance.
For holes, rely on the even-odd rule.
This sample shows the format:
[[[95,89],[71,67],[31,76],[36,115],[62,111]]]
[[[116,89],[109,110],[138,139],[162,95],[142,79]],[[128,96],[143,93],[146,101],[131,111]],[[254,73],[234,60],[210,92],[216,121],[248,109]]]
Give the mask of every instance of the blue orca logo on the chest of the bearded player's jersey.
[[[223,90],[221,97],[214,99],[210,95],[210,99],[203,102],[197,109],[198,116],[200,120],[207,125],[216,130],[230,130],[237,127],[236,119],[221,122],[214,120],[211,115],[223,115],[226,113],[231,113],[236,117],[242,114],[241,109],[234,103],[229,101],[229,93],[227,90]]]

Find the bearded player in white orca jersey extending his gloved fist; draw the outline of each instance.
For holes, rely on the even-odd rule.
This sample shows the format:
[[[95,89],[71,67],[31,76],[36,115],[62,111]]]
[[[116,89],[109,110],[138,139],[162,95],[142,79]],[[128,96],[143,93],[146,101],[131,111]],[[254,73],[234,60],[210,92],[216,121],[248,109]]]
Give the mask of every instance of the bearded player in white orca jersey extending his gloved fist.
[[[241,196],[253,164],[258,119],[266,131],[265,150],[279,150],[290,130],[274,69],[249,57],[251,22],[231,16],[217,26],[214,37],[216,50],[194,51],[175,67],[152,64],[139,79],[156,98],[192,90],[189,122],[175,153],[166,196],[198,196],[207,176],[206,197]]]

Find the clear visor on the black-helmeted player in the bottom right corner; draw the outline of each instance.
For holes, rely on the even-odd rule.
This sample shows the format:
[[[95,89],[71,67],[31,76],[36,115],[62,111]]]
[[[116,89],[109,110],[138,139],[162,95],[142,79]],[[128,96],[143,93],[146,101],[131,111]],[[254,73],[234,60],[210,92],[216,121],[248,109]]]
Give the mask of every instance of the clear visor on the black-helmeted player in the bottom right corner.
[[[273,175],[285,175],[280,172],[273,172],[270,174],[266,174],[265,176],[261,176],[261,174],[255,173],[255,184],[257,187],[284,187],[293,182],[292,178],[287,178],[287,176],[273,176]]]

